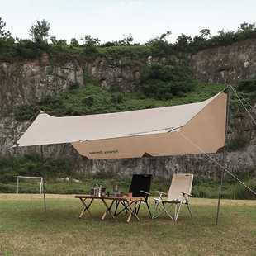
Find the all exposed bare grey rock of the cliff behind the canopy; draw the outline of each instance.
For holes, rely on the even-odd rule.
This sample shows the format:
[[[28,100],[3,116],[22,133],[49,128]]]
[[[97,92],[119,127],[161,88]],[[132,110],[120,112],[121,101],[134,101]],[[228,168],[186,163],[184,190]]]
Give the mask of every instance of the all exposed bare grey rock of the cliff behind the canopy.
[[[169,178],[174,171],[193,172],[203,175],[216,175],[220,168],[206,156],[160,157],[143,159],[94,160],[89,161],[78,156],[70,145],[33,147],[30,149],[9,149],[29,122],[18,122],[6,111],[13,107],[40,101],[48,95],[66,90],[73,84],[82,86],[88,73],[97,79],[103,88],[116,86],[123,92],[138,90],[141,68],[154,61],[151,56],[145,59],[129,61],[127,59],[77,60],[58,64],[51,62],[48,55],[35,61],[0,64],[0,153],[13,154],[24,151],[37,151],[45,155],[67,155],[78,159],[78,172],[117,172],[153,173]],[[195,78],[207,83],[233,83],[241,78],[250,78],[256,73],[256,40],[246,40],[228,47],[203,50],[187,60],[192,64]],[[230,138],[243,134],[247,145],[239,151],[230,152],[225,164],[234,172],[248,170],[256,166],[255,126],[247,116],[233,116],[230,126]],[[222,154],[214,154],[222,160]],[[213,173],[213,174],[212,174]],[[215,173],[215,174],[214,174]]]

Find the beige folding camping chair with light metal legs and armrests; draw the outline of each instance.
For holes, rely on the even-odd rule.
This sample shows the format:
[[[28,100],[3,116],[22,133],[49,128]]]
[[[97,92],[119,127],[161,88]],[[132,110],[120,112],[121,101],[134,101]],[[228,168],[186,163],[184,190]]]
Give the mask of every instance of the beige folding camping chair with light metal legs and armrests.
[[[192,182],[193,174],[173,174],[173,179],[168,194],[164,192],[159,192],[159,198],[154,198],[153,218],[157,218],[162,213],[165,213],[172,220],[177,221],[179,211],[183,204],[187,206],[187,210],[192,217],[192,213],[188,205],[189,197],[191,197]],[[163,195],[167,196],[167,198],[164,199]],[[168,211],[166,204],[170,204],[170,206],[175,205],[173,216],[171,215],[171,211]],[[161,208],[160,211],[158,211],[159,208]]]

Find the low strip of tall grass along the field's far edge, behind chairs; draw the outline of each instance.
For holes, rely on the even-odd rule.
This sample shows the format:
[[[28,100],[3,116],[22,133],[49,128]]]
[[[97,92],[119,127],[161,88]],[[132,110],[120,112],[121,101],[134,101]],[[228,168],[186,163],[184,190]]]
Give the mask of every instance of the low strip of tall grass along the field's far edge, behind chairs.
[[[8,176],[8,178],[14,179],[15,176]],[[111,173],[113,176],[113,173]],[[59,175],[60,178],[68,177],[69,182],[59,182],[57,178],[46,179],[45,191],[50,194],[87,194],[90,192],[94,184],[101,184],[107,187],[108,192],[112,192],[112,187],[118,184],[122,192],[127,192],[130,186],[130,178],[124,177],[119,178],[114,176],[112,178],[99,178],[97,175],[91,177],[81,177],[76,173],[69,173],[68,176],[65,173]],[[4,178],[7,178],[5,176]],[[76,183],[73,179],[78,179],[80,183]],[[197,184],[197,181],[202,180],[203,183]],[[249,178],[243,180],[244,183],[249,185],[254,191],[256,190],[256,179]],[[151,193],[153,196],[157,196],[156,191],[168,192],[171,180],[164,181],[161,179],[154,180]],[[195,178],[195,185],[192,188],[192,197],[198,198],[218,198],[219,193],[219,181],[213,180],[211,178]],[[2,193],[14,193],[16,191],[16,183],[14,182],[0,182],[0,192]],[[38,193],[39,184],[35,181],[21,180],[19,185],[19,192],[21,193]],[[249,190],[235,181],[225,182],[222,189],[222,197],[225,199],[254,199],[254,196]]]

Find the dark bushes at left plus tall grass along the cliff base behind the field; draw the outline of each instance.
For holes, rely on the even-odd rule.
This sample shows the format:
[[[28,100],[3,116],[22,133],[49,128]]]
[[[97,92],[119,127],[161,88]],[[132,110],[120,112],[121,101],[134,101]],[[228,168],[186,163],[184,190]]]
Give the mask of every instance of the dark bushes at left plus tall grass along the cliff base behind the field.
[[[128,191],[131,177],[120,178],[115,173],[106,173],[102,171],[97,174],[77,173],[75,172],[75,163],[70,158],[42,158],[39,154],[25,154],[16,156],[0,157],[0,192],[15,192],[16,176],[43,176],[45,177],[45,189],[48,193],[55,194],[75,194],[88,193],[94,184],[101,184],[107,187],[111,192],[114,184],[120,186],[123,192]],[[244,183],[248,184],[254,191],[256,190],[256,169],[247,173],[239,173]],[[69,181],[59,181],[59,178],[69,177]],[[78,179],[80,182],[77,183]],[[168,191],[171,178],[154,178],[151,187],[153,195],[156,191]],[[214,178],[194,178],[192,188],[193,197],[217,198],[219,192],[219,179]],[[39,185],[35,182],[22,181],[20,183],[20,192],[37,193]],[[228,174],[225,175],[223,184],[223,197],[230,199],[253,199],[254,196],[245,187],[240,185]]]

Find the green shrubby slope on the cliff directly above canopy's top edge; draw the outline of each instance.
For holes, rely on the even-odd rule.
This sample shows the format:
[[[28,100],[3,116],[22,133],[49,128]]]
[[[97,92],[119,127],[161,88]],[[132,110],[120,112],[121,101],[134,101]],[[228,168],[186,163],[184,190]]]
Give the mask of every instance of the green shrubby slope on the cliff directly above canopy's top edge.
[[[146,97],[141,92],[112,92],[88,83],[83,88],[74,87],[67,92],[60,92],[56,96],[45,97],[33,106],[21,106],[14,109],[17,121],[31,119],[43,110],[53,116],[78,116],[99,114],[116,111],[132,111],[138,109],[165,107],[191,102],[200,102],[212,97],[224,89],[222,84],[195,83],[190,92],[173,94],[171,99],[160,100]]]

